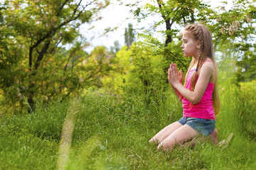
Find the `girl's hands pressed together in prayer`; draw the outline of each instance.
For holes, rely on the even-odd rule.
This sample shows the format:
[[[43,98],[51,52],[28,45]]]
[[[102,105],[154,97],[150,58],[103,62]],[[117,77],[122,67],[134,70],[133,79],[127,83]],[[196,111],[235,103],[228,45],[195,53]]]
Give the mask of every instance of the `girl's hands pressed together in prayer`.
[[[168,80],[169,80],[169,84],[171,84],[172,86],[175,86],[177,84],[182,84],[182,80],[183,80],[182,70],[178,72],[177,66],[173,62],[172,64],[169,65]]]

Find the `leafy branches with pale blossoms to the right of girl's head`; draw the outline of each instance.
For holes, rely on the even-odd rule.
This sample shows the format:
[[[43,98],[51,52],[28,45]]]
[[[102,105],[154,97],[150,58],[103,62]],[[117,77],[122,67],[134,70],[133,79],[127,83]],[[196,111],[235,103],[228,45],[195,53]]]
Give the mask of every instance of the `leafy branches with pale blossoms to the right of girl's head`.
[[[223,6],[204,22],[213,33],[216,51],[237,61],[237,82],[255,79],[255,19],[255,1],[234,1],[230,10]],[[221,61],[226,59],[222,57]]]

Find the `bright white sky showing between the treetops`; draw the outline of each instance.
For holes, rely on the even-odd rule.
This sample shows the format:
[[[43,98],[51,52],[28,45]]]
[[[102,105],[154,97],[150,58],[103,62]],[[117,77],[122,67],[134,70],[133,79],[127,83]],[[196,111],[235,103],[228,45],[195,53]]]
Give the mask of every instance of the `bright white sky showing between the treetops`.
[[[135,0],[129,0],[132,3]],[[212,6],[212,8],[217,8],[218,6],[223,6],[221,1],[223,0],[204,0],[206,4]],[[144,4],[149,1],[144,1]],[[228,10],[232,6],[232,0],[227,0],[228,5],[225,8]],[[151,1],[152,3],[152,1]],[[141,21],[139,24],[136,20],[133,19],[133,15],[129,12],[130,8],[128,6],[120,6],[118,3],[110,4],[104,11],[101,11],[102,19],[99,21],[94,21],[90,25],[83,25],[80,29],[82,35],[87,38],[87,41],[91,43],[90,47],[85,49],[87,52],[90,52],[94,47],[98,45],[104,45],[106,47],[113,46],[113,42],[118,40],[121,46],[124,45],[124,33],[125,28],[128,27],[128,23],[133,23],[133,28],[148,28],[150,23],[154,18],[148,18],[147,21]],[[94,27],[89,30],[89,28]],[[117,27],[116,30],[106,33],[105,28],[108,27]],[[159,28],[160,29],[160,28]]]

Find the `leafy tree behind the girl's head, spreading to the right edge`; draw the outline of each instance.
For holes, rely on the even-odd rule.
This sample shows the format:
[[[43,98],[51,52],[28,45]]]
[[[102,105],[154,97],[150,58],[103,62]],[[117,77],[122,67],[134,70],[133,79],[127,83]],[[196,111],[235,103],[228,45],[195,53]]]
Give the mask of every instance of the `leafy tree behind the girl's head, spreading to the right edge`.
[[[220,11],[217,12],[217,8],[212,9],[201,0],[155,0],[154,4],[136,6],[132,12],[138,21],[148,19],[150,16],[154,16],[157,21],[157,16],[160,16],[158,22],[152,25],[152,30],[147,30],[140,36],[143,36],[149,44],[163,50],[162,54],[166,61],[165,72],[170,62],[177,62],[178,67],[186,71],[189,61],[182,58],[179,32],[189,23],[203,23],[208,26],[213,35],[216,51],[224,52],[223,45],[225,45],[228,50],[232,50],[231,55],[234,59],[241,60],[243,58],[248,61],[247,64],[238,62],[237,66],[243,64],[242,70],[252,72],[253,64],[250,64],[249,61],[254,59],[252,51],[255,49],[255,43],[252,43],[255,36],[255,28],[252,26],[255,23],[255,0],[234,1],[233,8],[229,11],[225,10],[225,2],[223,3]],[[133,7],[133,4],[130,6]],[[154,37],[155,28],[162,25],[165,26],[165,29],[162,30],[165,35],[164,44]],[[254,76],[252,74],[249,77]]]

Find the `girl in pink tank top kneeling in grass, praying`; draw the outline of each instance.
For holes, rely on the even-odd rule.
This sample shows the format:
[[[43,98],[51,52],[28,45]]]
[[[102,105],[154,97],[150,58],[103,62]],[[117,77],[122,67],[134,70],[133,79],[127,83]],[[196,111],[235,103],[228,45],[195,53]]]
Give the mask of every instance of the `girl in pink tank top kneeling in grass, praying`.
[[[183,117],[152,137],[150,143],[157,142],[157,149],[172,149],[174,145],[189,142],[199,135],[218,143],[215,115],[220,110],[220,100],[213,41],[206,26],[186,26],[182,35],[182,52],[184,57],[192,56],[184,86],[182,71],[178,72],[176,64],[170,64],[168,80],[183,103]]]

